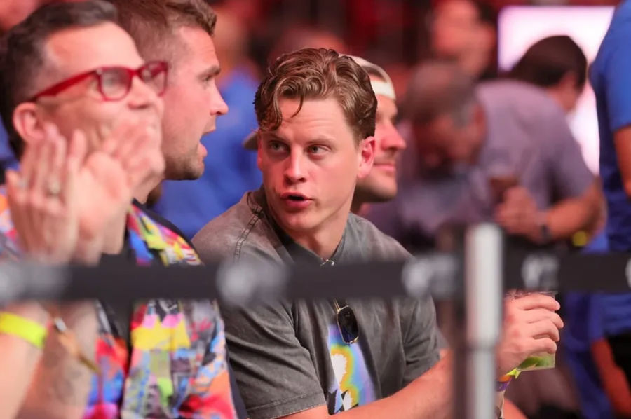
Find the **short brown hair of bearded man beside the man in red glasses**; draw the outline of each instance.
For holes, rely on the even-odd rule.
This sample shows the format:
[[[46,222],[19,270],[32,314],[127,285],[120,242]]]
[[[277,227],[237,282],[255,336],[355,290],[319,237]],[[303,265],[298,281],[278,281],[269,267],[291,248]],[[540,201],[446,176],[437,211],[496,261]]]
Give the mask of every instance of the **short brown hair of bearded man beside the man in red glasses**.
[[[168,58],[164,56],[164,41],[173,34],[173,29],[199,27],[210,36],[215,34],[217,14],[208,0],[109,1],[118,8],[121,26],[136,42],[140,55],[148,60]]]

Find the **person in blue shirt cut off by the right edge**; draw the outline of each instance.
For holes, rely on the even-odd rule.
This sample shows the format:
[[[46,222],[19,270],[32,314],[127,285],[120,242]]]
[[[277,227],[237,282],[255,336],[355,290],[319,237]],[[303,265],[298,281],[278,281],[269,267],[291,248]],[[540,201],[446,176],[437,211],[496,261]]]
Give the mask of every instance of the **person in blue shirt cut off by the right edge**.
[[[596,95],[600,134],[600,177],[607,202],[609,250],[631,250],[631,1],[616,9],[590,81]],[[590,298],[588,341],[597,378],[613,414],[631,418],[631,294]]]

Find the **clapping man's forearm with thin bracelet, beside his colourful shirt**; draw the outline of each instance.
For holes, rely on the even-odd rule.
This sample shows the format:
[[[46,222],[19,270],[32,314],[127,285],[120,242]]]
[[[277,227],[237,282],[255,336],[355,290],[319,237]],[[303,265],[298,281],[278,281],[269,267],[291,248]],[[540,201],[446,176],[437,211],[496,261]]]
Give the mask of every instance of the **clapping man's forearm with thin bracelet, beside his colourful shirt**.
[[[86,301],[58,309],[81,351],[93,356],[98,333],[95,304]],[[68,352],[59,336],[51,331],[18,418],[81,418],[86,410],[92,374],[93,371]]]

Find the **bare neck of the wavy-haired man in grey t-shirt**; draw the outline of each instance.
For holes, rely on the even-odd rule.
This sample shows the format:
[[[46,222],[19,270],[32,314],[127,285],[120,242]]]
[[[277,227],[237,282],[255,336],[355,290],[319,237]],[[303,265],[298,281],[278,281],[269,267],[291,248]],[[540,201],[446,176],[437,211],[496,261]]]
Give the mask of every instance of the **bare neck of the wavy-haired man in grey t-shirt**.
[[[309,231],[292,231],[292,229],[287,228],[283,224],[282,220],[273,214],[273,210],[272,215],[280,228],[283,228],[283,231],[285,231],[294,242],[311,250],[311,252],[320,256],[321,259],[327,260],[333,256],[339,246],[339,242],[341,242],[344,230],[346,229],[346,221],[348,221],[350,208],[351,202],[348,202],[348,205],[344,205],[344,208],[337,214],[323,221],[321,226]]]

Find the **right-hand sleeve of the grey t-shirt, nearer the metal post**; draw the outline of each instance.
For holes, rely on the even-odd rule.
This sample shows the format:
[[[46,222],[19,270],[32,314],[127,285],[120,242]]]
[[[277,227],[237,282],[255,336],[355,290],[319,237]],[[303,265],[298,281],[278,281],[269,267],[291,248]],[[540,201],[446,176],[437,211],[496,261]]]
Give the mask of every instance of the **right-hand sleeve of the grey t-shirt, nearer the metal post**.
[[[432,298],[402,303],[403,350],[405,373],[403,385],[408,385],[426,373],[439,359],[436,310]]]

